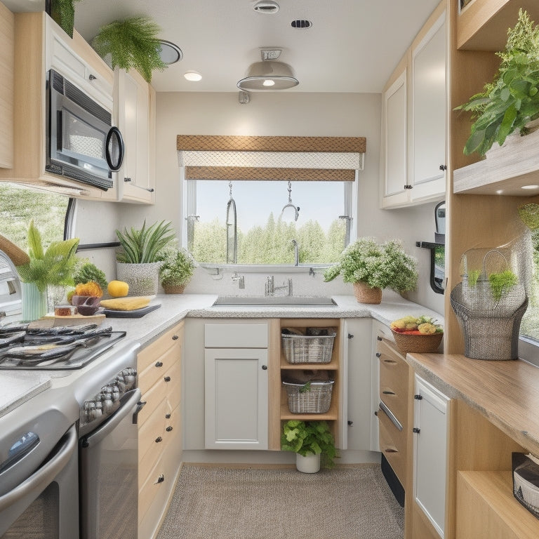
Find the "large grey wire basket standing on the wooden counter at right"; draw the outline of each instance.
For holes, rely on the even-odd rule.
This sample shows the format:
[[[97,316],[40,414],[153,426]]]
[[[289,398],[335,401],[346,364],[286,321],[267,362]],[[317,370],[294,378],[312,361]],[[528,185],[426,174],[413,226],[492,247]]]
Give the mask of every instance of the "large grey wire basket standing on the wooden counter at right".
[[[515,284],[494,298],[488,281],[487,256],[498,255],[497,271],[508,267],[507,258],[496,249],[487,251],[477,283],[465,278],[451,291],[451,307],[463,331],[465,356],[471,359],[517,359],[519,329],[528,307],[522,284]],[[491,262],[491,267],[492,262]]]

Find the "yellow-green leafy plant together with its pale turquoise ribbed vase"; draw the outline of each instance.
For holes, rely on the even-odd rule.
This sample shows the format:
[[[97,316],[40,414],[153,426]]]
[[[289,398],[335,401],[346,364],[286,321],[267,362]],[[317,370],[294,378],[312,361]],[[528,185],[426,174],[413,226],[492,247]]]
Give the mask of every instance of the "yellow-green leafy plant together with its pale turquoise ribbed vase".
[[[32,220],[28,228],[28,246],[27,263],[16,267],[22,289],[22,318],[36,320],[47,312],[49,287],[73,284],[79,239],[53,241],[45,248]]]

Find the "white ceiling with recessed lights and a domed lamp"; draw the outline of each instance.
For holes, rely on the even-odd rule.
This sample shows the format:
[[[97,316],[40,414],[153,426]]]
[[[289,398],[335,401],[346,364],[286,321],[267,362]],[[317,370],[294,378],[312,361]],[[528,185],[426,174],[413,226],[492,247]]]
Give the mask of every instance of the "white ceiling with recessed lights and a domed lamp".
[[[12,11],[42,9],[44,0],[0,0]],[[149,15],[160,39],[183,60],[154,72],[157,91],[238,91],[237,81],[260,61],[260,48],[282,48],[299,86],[290,92],[375,92],[439,0],[277,0],[277,13],[258,13],[257,0],[79,0],[75,27],[91,41],[113,20]],[[310,29],[291,22],[307,19]],[[194,70],[198,83],[183,74]]]

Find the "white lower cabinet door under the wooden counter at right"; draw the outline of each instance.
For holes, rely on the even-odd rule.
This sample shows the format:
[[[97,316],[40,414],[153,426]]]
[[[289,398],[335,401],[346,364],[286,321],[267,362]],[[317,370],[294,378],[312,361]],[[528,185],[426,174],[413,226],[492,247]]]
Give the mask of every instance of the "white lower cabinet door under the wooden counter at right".
[[[449,399],[415,375],[413,496],[440,537],[446,514],[446,453]]]

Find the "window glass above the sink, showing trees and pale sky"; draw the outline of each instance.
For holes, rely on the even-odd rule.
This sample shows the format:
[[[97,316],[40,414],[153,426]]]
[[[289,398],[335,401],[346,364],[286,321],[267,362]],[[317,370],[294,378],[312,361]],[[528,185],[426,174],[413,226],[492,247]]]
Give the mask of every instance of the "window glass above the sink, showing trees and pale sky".
[[[237,215],[238,264],[326,264],[350,237],[352,182],[292,182],[290,199],[299,207],[298,220],[288,204],[288,184],[281,181],[232,182]],[[198,262],[227,263],[227,181],[188,180],[187,244]],[[347,234],[348,232],[348,234]],[[230,258],[228,258],[230,260]]]

